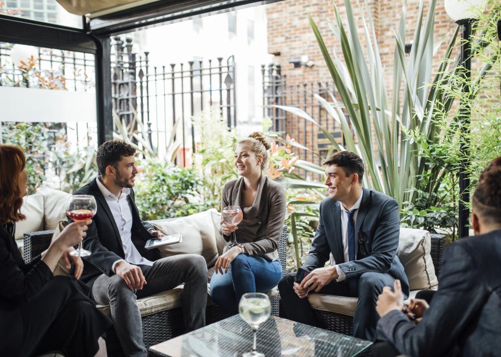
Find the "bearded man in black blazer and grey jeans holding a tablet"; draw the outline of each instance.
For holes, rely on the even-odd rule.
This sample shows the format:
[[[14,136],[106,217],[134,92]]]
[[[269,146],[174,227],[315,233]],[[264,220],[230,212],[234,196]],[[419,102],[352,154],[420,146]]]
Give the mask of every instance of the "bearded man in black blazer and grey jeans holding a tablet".
[[[84,257],[82,281],[92,287],[94,300],[110,305],[122,349],[127,356],[147,356],[136,297],[169,290],[184,283],[181,305],[187,331],[205,325],[207,265],[198,254],[161,258],[145,242],[161,232],[141,221],[134,203],[138,168],[135,149],[124,142],[103,143],[97,152],[101,176],[75,194],[93,195],[97,214],[83,241],[92,254]]]

